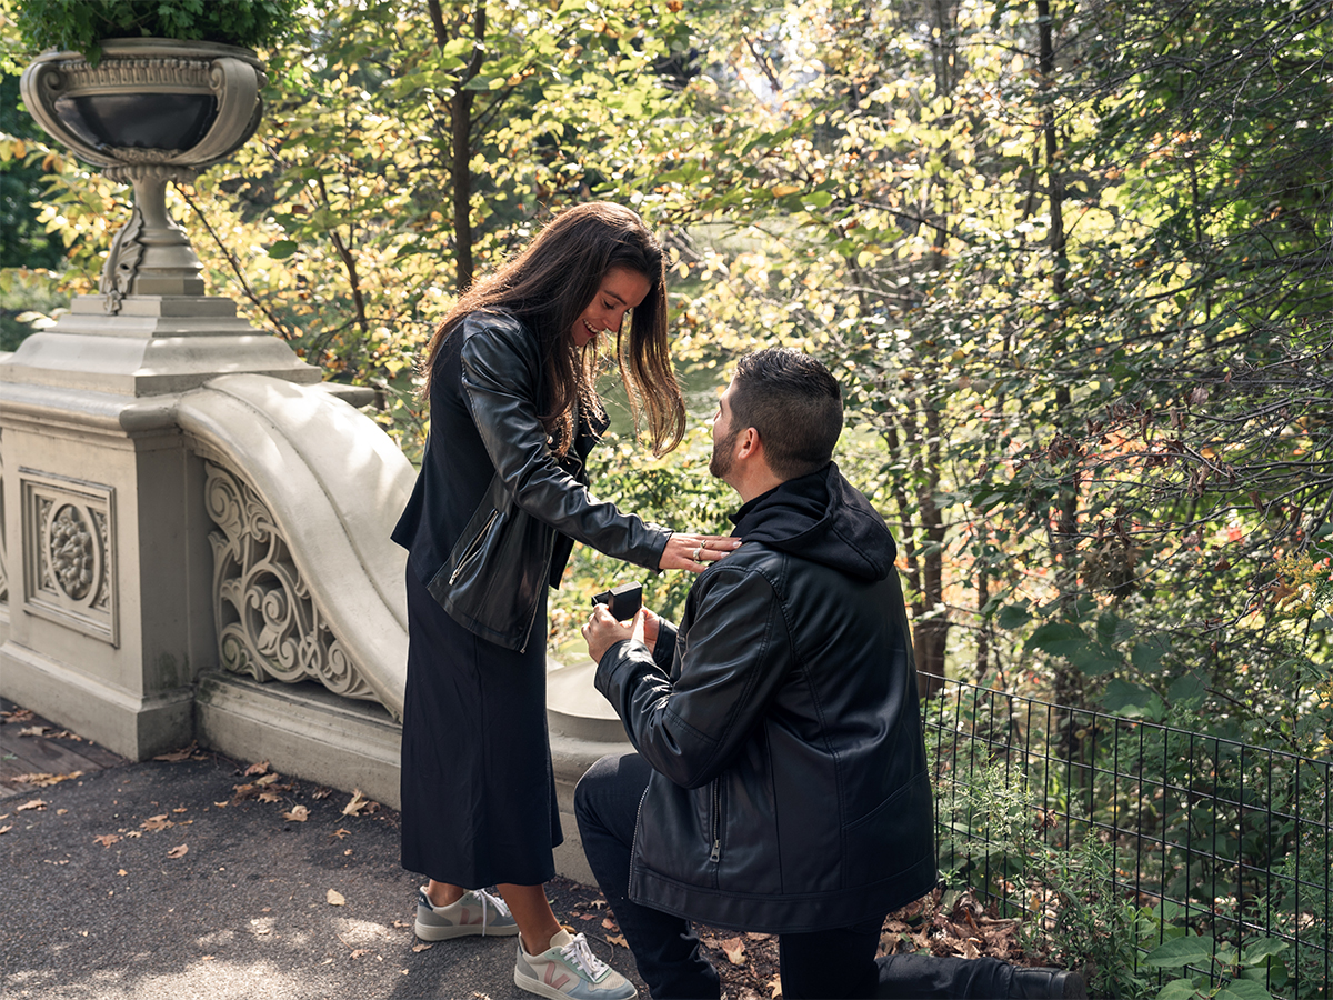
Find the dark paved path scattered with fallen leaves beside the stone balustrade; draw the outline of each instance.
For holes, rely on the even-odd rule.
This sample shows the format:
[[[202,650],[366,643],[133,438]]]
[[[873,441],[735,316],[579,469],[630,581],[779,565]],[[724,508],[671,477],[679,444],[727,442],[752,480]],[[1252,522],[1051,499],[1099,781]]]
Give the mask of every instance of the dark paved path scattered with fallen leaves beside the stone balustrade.
[[[351,791],[211,752],[129,763],[0,709],[5,1000],[531,996],[513,985],[513,937],[416,951],[420,880],[399,867],[392,809],[345,812]],[[647,997],[596,889],[548,893]]]

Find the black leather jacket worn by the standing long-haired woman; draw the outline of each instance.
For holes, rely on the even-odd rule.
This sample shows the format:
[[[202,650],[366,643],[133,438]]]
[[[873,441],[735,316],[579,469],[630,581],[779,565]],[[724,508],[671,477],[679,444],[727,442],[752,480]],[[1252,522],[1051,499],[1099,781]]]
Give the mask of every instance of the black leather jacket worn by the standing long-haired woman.
[[[670,536],[589,495],[584,463],[605,421],[581,415],[557,457],[537,416],[541,388],[537,340],[517,319],[464,319],[436,357],[425,456],[393,529],[440,605],[511,649],[524,648],[575,540],[656,569]]]

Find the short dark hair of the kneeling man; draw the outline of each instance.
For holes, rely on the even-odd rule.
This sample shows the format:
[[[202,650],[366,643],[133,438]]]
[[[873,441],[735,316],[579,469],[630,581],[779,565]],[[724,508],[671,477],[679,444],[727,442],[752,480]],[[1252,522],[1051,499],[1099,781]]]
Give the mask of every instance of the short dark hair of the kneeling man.
[[[769,468],[784,480],[828,465],[842,433],[837,379],[818,360],[785,347],[741,357],[730,409],[732,429],[758,431]]]

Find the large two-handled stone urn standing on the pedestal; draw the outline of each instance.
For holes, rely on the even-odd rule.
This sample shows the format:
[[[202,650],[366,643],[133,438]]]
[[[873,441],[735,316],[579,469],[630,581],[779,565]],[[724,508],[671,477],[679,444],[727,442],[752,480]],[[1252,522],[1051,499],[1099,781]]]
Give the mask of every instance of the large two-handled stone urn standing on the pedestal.
[[[101,273],[104,308],[129,295],[203,295],[203,267],[167,211],[167,183],[227,159],[263,117],[263,64],[236,45],[108,39],[91,65],[45,52],[20,80],[29,113],[85,163],[135,188]]]

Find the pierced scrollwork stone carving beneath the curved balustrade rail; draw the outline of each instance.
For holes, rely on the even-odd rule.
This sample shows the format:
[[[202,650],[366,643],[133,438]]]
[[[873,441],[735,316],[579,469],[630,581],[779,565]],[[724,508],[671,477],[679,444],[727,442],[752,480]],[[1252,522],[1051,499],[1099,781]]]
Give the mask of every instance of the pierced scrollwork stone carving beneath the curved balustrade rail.
[[[207,468],[204,499],[219,528],[208,540],[224,669],[260,681],[317,680],[345,697],[379,701],[325,623],[264,501],[228,469]]]

